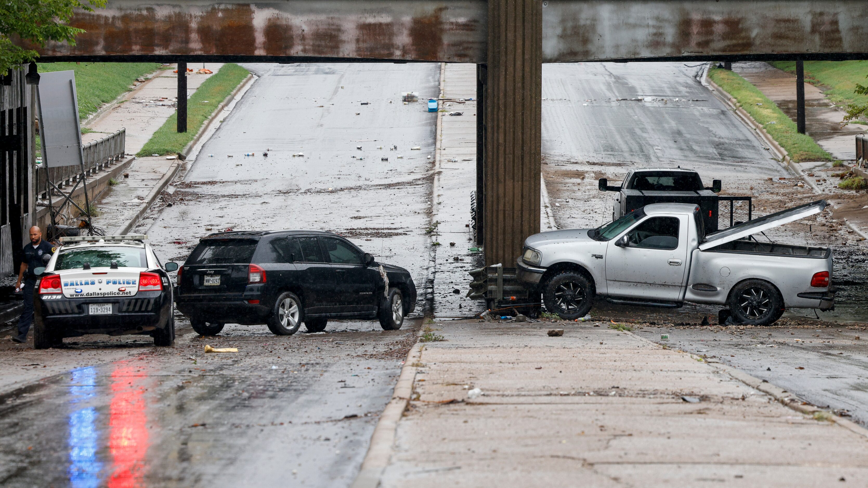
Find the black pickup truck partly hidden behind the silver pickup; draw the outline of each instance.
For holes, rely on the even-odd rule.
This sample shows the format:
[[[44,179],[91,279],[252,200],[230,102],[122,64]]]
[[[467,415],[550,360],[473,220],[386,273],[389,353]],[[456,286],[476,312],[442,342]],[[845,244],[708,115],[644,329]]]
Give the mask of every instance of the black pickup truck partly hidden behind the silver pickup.
[[[720,180],[711,188],[702,186],[699,173],[682,168],[634,169],[624,177],[621,186],[609,186],[600,179],[600,191],[618,192],[612,210],[612,220],[629,214],[636,208],[652,203],[694,203],[700,206],[706,233],[749,221],[752,217],[751,197],[721,196]],[[720,215],[720,201],[728,201]]]

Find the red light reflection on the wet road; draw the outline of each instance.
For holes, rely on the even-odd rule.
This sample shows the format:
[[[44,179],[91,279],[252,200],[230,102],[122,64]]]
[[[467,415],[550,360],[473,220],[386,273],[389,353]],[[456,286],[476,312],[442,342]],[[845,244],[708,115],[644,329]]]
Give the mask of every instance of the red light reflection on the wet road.
[[[109,488],[141,486],[148,452],[148,418],[145,415],[147,373],[128,361],[115,363],[111,374],[112,399],[109,404],[109,452],[112,456]]]

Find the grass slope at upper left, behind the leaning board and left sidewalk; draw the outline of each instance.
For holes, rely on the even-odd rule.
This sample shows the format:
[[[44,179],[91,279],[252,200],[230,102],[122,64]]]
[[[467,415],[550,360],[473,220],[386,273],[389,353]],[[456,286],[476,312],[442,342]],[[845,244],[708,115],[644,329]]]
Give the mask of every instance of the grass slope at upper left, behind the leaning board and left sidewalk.
[[[40,73],[69,69],[76,72],[78,116],[84,120],[103,104],[129,91],[136,78],[163,66],[161,63],[38,63],[38,67]]]

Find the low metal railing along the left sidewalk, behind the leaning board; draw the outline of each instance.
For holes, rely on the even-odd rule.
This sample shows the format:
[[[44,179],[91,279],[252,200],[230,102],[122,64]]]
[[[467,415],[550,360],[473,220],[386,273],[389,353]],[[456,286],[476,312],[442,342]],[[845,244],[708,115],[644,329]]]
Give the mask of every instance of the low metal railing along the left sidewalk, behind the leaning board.
[[[109,168],[112,163],[120,162],[127,149],[127,129],[121,129],[114,134],[106,135],[82,146],[84,154],[85,177],[97,171]],[[38,168],[36,170],[36,188],[43,199],[48,198],[47,185],[52,181],[58,188],[74,184],[82,175],[79,166],[62,166],[59,168]]]

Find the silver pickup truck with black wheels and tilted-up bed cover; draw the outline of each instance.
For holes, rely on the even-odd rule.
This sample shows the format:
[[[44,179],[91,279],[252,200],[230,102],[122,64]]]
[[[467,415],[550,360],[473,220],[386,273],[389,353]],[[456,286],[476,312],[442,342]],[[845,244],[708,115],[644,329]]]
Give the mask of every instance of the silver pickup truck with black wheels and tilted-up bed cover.
[[[644,307],[727,305],[735,322],[764,326],[786,308],[834,306],[829,249],[751,238],[825,206],[814,201],[706,235],[697,205],[648,205],[600,228],[531,235],[517,277],[567,320],[587,314],[602,295]]]

